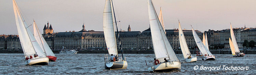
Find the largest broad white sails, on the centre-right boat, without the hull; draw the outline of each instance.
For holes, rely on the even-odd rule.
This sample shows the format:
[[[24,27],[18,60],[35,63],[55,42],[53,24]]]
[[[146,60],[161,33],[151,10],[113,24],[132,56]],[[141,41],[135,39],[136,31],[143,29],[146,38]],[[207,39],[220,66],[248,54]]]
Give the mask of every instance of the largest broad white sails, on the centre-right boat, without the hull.
[[[149,15],[149,24],[151,30],[152,43],[154,48],[154,53],[157,59],[169,58],[172,61],[179,61],[175,55],[163,27],[157,17],[157,13],[154,9],[153,3],[151,0],[148,0],[148,15]],[[161,62],[161,60],[160,60]]]

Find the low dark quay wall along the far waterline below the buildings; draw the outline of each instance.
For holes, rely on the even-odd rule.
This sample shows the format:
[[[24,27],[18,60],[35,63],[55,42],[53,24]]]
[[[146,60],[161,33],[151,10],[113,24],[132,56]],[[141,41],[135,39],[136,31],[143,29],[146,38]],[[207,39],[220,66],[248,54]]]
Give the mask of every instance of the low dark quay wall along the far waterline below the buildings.
[[[191,54],[196,54],[197,50],[190,50]],[[256,50],[241,50],[244,54],[256,54]],[[59,51],[53,51],[54,54],[59,54]],[[176,54],[182,54],[181,50],[175,50]],[[22,50],[0,50],[0,53],[13,53],[23,54]],[[78,54],[107,54],[107,50],[83,50],[79,51]],[[118,51],[121,53],[121,51]],[[154,54],[153,50],[124,50],[124,54]],[[230,50],[211,50],[212,54],[232,54]]]

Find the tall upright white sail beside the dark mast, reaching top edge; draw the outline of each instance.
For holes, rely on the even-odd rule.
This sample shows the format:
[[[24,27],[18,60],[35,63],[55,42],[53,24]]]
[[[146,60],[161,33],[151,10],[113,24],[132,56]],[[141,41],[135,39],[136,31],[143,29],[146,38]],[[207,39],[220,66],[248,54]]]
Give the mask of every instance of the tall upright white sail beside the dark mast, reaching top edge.
[[[103,11],[103,30],[104,37],[108,49],[108,53],[111,55],[117,55],[116,35],[114,31],[113,16],[112,16],[112,4],[111,0],[106,0]]]

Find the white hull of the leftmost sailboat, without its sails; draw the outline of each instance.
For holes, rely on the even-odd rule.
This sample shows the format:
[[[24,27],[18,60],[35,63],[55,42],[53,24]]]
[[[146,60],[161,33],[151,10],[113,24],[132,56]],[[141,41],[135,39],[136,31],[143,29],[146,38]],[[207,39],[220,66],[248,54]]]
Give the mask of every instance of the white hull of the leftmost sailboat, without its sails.
[[[29,59],[25,62],[26,65],[48,65],[48,63],[49,58],[47,57]]]

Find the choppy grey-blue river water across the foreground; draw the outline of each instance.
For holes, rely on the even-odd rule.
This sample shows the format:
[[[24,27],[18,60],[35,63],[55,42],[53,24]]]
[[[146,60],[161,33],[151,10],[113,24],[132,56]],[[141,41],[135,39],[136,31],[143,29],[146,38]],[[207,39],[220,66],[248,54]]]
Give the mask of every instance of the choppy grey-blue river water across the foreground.
[[[202,61],[198,57],[197,62],[186,63],[181,54],[180,72],[161,72],[149,73],[147,66],[152,64],[153,54],[124,54],[128,62],[127,69],[124,70],[105,70],[104,54],[55,54],[56,62],[49,62],[48,66],[34,65],[26,66],[23,54],[0,54],[0,74],[256,74],[256,55],[245,55],[245,57],[232,57],[232,55],[215,55],[216,61]],[[194,55],[193,55],[194,56]],[[201,65],[206,67],[218,67],[220,70],[194,70],[194,66]],[[244,67],[249,70],[222,70],[222,66]]]

